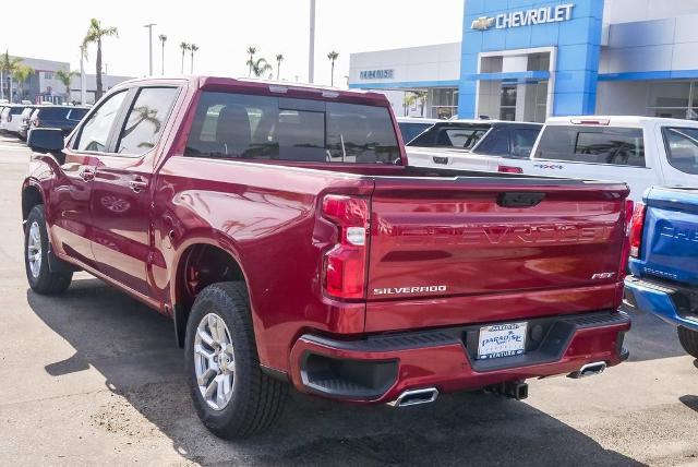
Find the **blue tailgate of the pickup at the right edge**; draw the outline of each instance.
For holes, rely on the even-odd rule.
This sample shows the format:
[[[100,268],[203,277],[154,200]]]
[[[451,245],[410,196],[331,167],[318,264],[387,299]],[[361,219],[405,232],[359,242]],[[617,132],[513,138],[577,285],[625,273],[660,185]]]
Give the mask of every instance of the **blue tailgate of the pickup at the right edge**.
[[[653,189],[642,236],[643,275],[698,285],[698,190]]]

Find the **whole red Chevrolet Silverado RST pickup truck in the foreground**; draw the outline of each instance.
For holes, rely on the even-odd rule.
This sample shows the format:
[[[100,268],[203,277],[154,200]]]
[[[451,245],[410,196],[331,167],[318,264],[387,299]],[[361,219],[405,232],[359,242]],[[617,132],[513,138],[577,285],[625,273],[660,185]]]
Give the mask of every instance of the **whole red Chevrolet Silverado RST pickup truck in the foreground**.
[[[397,128],[373,93],[120,84],[65,142],[29,135],[29,286],[86,271],[170,316],[227,438],[289,383],[407,406],[622,362],[627,187],[408,167]]]

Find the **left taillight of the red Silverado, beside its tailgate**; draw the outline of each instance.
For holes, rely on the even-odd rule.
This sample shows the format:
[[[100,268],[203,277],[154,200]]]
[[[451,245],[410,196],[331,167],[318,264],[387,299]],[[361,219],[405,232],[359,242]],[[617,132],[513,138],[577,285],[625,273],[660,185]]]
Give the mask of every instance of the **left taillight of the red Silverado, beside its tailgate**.
[[[325,254],[324,287],[340,299],[365,297],[369,202],[364,197],[328,194],[323,199],[323,217],[339,231],[337,244]]]

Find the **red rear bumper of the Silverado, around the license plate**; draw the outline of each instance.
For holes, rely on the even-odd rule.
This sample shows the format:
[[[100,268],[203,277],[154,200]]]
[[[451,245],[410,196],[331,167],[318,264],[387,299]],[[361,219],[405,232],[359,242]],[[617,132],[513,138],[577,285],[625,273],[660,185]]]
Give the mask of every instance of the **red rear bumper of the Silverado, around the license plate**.
[[[624,334],[630,328],[626,313],[587,313],[528,323],[526,355],[490,360],[476,359],[480,324],[361,340],[305,334],[291,350],[291,380],[305,393],[353,403],[387,403],[408,390],[474,390],[569,374],[590,362],[603,361],[611,367],[628,357],[623,348]]]

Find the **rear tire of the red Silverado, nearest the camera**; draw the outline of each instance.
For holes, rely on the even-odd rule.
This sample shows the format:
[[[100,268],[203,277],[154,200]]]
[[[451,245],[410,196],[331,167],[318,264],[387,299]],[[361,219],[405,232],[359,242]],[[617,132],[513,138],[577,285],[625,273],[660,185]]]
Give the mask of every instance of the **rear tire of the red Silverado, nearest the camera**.
[[[210,324],[210,315],[216,316],[215,326]],[[218,356],[217,360],[215,356],[212,359],[204,356],[204,352],[210,356],[210,350],[216,348],[207,344],[210,342],[208,337],[217,337],[217,332],[212,330],[220,330],[220,323],[216,320],[222,320],[222,334],[227,336],[222,339],[224,344],[217,347],[220,349],[215,354]],[[207,334],[205,339],[202,338],[204,334]],[[230,344],[226,344],[227,342]],[[225,350],[222,347],[229,349],[229,345],[233,349],[232,359],[230,352],[221,351]],[[198,352],[195,351],[197,347]],[[186,323],[184,351],[186,380],[194,408],[204,426],[216,435],[225,439],[246,438],[267,429],[281,414],[288,395],[288,384],[263,373],[260,368],[249,297],[243,284],[213,284],[198,294]],[[212,369],[214,360],[220,367]],[[230,375],[230,370],[227,373],[222,370],[226,363],[228,369],[233,368],[232,383],[228,383],[229,399],[226,402],[224,396],[222,402],[217,397],[215,400],[207,400],[205,390],[212,387],[212,381]],[[197,381],[197,366],[198,374],[204,375],[202,386]],[[217,395],[218,385],[219,383],[216,383]],[[221,387],[225,392],[225,382]],[[217,405],[217,408],[212,404]]]

